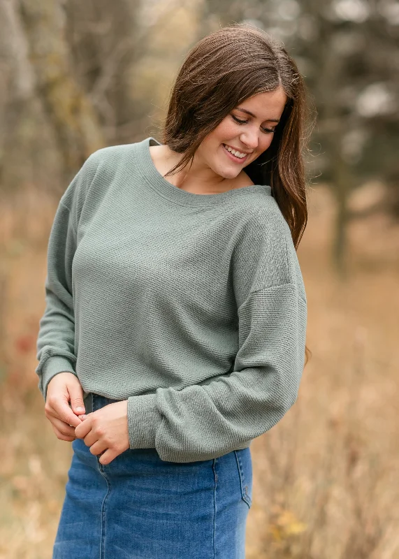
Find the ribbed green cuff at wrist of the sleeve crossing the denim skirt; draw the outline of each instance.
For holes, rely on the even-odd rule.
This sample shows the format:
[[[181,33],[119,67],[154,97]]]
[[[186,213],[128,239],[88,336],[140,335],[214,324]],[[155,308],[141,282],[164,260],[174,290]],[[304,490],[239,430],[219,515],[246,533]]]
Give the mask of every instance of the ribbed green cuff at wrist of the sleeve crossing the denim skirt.
[[[155,435],[162,416],[156,407],[156,394],[127,399],[127,426],[131,449],[154,449]]]

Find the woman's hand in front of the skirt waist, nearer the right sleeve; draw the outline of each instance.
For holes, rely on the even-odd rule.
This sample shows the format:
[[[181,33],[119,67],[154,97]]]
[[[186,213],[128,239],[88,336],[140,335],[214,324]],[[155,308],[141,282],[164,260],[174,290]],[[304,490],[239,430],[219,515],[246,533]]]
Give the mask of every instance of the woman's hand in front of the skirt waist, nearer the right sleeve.
[[[92,454],[103,455],[101,464],[109,464],[129,449],[127,428],[127,400],[108,404],[96,412],[87,414],[75,428],[75,436],[83,439]]]

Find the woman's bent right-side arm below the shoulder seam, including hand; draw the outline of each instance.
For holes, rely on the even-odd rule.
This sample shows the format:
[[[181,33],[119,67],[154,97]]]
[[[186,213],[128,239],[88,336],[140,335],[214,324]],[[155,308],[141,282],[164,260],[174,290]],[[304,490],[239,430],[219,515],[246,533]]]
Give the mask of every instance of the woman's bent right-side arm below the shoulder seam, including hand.
[[[100,461],[108,464],[129,447],[155,447],[172,462],[208,460],[265,433],[296,400],[306,304],[294,284],[284,284],[251,293],[238,314],[234,372],[110,404],[88,414],[75,435],[92,453],[106,451]]]

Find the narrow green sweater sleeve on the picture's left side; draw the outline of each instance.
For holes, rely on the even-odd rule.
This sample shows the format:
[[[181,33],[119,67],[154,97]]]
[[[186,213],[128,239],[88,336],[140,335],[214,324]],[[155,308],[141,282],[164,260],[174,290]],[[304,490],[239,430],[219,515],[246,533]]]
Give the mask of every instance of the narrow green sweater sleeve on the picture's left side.
[[[36,374],[44,399],[48,383],[57,373],[68,371],[76,375],[72,261],[77,244],[78,217],[94,176],[95,161],[92,154],[68,185],[59,201],[50,231],[45,312],[39,323],[36,342]]]

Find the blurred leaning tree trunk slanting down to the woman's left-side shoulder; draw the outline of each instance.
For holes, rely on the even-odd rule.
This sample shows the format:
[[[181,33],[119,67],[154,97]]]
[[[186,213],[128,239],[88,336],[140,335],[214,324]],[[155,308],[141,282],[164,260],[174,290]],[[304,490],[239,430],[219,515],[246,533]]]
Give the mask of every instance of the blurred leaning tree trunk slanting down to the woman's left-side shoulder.
[[[57,0],[20,0],[20,15],[41,99],[55,130],[67,177],[103,146],[91,103],[78,86],[68,59],[65,17]]]

